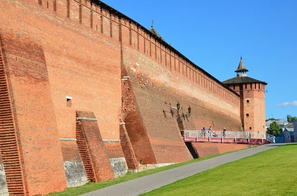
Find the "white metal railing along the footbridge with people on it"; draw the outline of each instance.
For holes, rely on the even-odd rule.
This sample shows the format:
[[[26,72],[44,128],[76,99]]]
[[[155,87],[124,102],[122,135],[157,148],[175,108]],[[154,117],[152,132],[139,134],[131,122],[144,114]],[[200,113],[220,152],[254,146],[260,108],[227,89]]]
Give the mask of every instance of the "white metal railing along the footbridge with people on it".
[[[195,138],[196,141],[198,139],[208,138],[208,141],[211,140],[211,138],[221,138],[221,141],[223,142],[224,139],[234,139],[234,142],[236,142],[236,139],[247,139],[248,142],[250,139],[261,139],[262,143],[263,140],[267,140],[271,143],[275,143],[275,137],[273,135],[269,135],[268,133],[261,133],[261,132],[234,132],[234,131],[197,131],[197,130],[184,130],[184,140],[185,141],[193,141]]]

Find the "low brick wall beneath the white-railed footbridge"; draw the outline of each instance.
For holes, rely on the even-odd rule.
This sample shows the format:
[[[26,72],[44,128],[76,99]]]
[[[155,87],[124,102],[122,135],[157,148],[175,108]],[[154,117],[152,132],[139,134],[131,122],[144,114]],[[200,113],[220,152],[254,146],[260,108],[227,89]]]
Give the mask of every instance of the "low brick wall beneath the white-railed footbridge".
[[[216,155],[226,153],[230,151],[237,151],[246,149],[248,144],[222,144],[222,143],[192,143],[192,146],[196,150],[198,157],[206,157],[210,155]]]

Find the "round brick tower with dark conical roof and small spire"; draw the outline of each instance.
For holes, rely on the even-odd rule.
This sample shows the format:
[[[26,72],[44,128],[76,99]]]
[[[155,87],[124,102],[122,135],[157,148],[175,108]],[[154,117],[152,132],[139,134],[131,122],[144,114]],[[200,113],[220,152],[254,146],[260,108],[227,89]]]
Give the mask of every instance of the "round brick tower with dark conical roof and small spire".
[[[266,82],[247,77],[248,70],[240,58],[237,76],[223,81],[240,94],[240,116],[244,131],[265,132],[265,85]]]

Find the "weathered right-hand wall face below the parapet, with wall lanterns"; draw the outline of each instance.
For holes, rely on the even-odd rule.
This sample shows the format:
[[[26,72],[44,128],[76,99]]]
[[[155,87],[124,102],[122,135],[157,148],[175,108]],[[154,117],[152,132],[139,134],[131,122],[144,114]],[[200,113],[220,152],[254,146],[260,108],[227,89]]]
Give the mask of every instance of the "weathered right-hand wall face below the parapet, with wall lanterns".
[[[184,78],[175,81],[175,78],[179,76],[130,47],[123,47],[123,54],[127,75],[130,77],[129,82],[133,86],[130,89],[134,93],[137,109],[148,135],[156,163],[181,162],[191,159],[180,134],[176,117],[170,114],[171,106],[169,104],[176,107],[179,102],[183,107],[180,112],[186,115],[183,122],[185,129],[200,130],[203,126],[207,128],[211,125],[213,130],[222,130],[223,127],[232,131],[241,130],[239,106],[228,104],[228,107],[225,102],[222,103],[207,91],[203,92],[202,89],[197,88]],[[188,86],[186,82],[188,82]],[[125,100],[125,96],[123,100]],[[189,105],[192,108],[191,117],[187,114]],[[133,144],[135,143],[134,136],[131,138],[130,135],[135,135],[136,132],[140,134],[140,132],[138,130],[131,131],[130,127],[133,126],[130,124],[139,124],[139,119],[130,118],[131,111],[128,107],[123,107],[123,109],[124,121]],[[143,136],[145,137],[146,134]],[[139,157],[137,148],[140,148],[142,152],[148,151],[148,148],[142,146],[134,147],[137,157]],[[144,163],[151,163],[146,162],[149,161],[148,159],[141,160]]]

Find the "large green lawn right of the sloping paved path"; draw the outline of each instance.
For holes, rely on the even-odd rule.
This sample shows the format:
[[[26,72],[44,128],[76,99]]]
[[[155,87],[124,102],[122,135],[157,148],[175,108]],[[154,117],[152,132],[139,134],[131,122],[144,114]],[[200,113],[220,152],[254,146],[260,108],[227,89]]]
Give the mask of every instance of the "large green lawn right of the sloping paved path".
[[[141,196],[297,196],[297,144],[230,162]]]

